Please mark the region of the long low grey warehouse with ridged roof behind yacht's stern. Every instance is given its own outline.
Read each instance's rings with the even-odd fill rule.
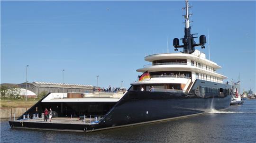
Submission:
[[[26,89],[26,83],[18,84],[18,87]],[[91,93],[93,92],[92,85],[88,84],[61,84],[48,82],[33,82],[27,83],[27,90],[30,90],[37,95],[46,93]]]

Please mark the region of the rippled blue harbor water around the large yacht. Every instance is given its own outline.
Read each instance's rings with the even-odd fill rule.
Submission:
[[[255,143],[256,100],[165,122],[92,133],[12,129],[1,121],[0,143]]]

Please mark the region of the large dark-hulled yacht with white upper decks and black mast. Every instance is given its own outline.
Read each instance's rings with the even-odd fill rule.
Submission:
[[[195,50],[205,48],[206,37],[196,43],[191,34],[188,0],[185,1],[183,45],[174,38],[180,52],[145,57],[151,62],[137,72],[143,73],[126,92],[48,93],[17,120],[12,128],[91,132],[123,126],[159,122],[205,113],[207,109],[226,109],[231,101],[231,85],[217,73],[219,65]],[[58,96],[57,96],[58,94]],[[43,122],[44,109],[55,114],[52,122]]]

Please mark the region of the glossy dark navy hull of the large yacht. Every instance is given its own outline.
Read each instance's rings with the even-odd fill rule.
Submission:
[[[225,95],[204,93],[204,97],[198,96],[195,90],[200,82],[198,80],[194,84],[191,93],[128,91],[98,124],[49,124],[23,121],[10,121],[9,124],[11,127],[89,132],[190,116],[204,113],[211,108],[219,110],[229,107],[232,97],[229,93]],[[219,86],[224,88],[227,85],[219,84]]]

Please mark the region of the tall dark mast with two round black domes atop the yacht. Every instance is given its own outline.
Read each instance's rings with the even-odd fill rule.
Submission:
[[[180,40],[182,40],[182,43],[183,45],[180,45],[180,42],[179,42],[179,38],[174,38],[174,50],[178,50],[177,48],[183,48],[184,51],[183,53],[193,53],[195,51],[195,46],[201,46],[201,48],[205,48],[204,47],[204,44],[206,43],[206,37],[205,35],[201,35],[199,37],[199,43],[197,44],[195,41],[194,41],[194,38],[197,38],[197,37],[194,37],[193,35],[195,34],[191,34],[191,26],[189,26],[189,16],[191,16],[192,14],[189,14],[188,13],[188,9],[191,8],[188,6],[188,0],[186,0],[186,7],[185,8],[182,8],[182,9],[186,9],[186,15],[184,15],[184,18],[185,18],[185,28],[184,28],[184,38],[181,38]]]

